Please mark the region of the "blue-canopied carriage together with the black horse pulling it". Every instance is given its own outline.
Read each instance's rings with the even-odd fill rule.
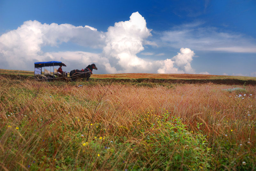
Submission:
[[[74,69],[70,71],[69,77],[67,72],[58,72],[54,66],[66,66],[64,63],[60,61],[49,61],[49,62],[35,62],[35,72],[34,77],[37,80],[70,80],[75,81],[77,78],[86,78],[88,81],[89,77],[92,74],[93,69],[98,69],[95,64],[88,65],[86,68],[82,70]],[[50,70],[44,68],[44,74],[42,72],[43,67],[50,67]],[[52,67],[52,70],[51,70]],[[51,72],[52,71],[52,72]]]

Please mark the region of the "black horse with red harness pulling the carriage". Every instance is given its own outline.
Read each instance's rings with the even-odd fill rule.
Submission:
[[[74,70],[70,71],[69,76],[70,76],[72,81],[75,81],[76,78],[86,78],[86,81],[88,81],[90,76],[91,76],[91,74],[92,74],[92,70],[93,69],[98,70],[98,68],[96,67],[95,64],[88,65],[84,69],[84,71],[83,70],[74,69]]]

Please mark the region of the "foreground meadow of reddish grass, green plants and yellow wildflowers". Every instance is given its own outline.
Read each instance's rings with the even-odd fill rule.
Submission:
[[[0,75],[0,169],[256,170],[255,92]]]

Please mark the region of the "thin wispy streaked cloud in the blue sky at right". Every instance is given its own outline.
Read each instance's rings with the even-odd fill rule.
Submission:
[[[234,32],[204,27],[203,22],[183,24],[162,33],[163,45],[197,51],[256,53],[255,39]]]

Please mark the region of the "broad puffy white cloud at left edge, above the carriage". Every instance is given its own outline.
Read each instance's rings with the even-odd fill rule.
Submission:
[[[0,56],[12,68],[31,69],[29,61],[44,60],[43,46],[58,47],[63,42],[99,48],[104,46],[105,35],[93,27],[75,27],[70,24],[41,24],[25,21],[16,30],[0,36]],[[70,56],[69,58],[72,58]],[[17,61],[17,62],[13,62]]]

